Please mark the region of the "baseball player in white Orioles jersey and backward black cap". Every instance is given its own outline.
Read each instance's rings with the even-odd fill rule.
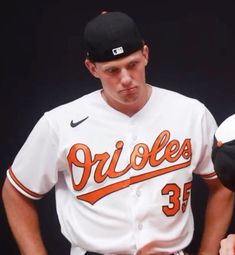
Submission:
[[[128,15],[98,15],[84,40],[101,89],[46,112],[7,170],[3,200],[21,253],[47,254],[32,200],[55,186],[71,255],[183,254],[197,174],[209,189],[198,254],[217,255],[233,196],[213,170],[211,113],[146,83],[149,49]]]

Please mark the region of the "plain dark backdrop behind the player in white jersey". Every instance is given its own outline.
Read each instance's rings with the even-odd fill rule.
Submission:
[[[1,187],[6,169],[43,112],[100,87],[84,67],[82,34],[86,22],[103,10],[127,12],[138,23],[150,47],[149,83],[199,99],[218,124],[235,112],[232,0],[9,0],[0,5]],[[197,178],[192,193],[196,229],[189,250],[195,253],[207,195]],[[69,244],[60,235],[53,191],[37,205],[49,254],[69,254]],[[235,232],[234,219],[229,231]],[[3,249],[5,254],[19,254],[1,202]]]

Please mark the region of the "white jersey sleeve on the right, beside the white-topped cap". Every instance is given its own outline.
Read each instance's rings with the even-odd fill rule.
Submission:
[[[217,123],[211,112],[205,107],[204,114],[201,118],[201,141],[198,141],[201,146],[200,160],[194,171],[203,179],[214,179],[217,175],[214,171],[213,162],[211,159],[212,145],[214,134],[217,129]]]

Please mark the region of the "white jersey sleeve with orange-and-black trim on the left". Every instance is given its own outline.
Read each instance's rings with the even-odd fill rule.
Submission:
[[[25,196],[40,199],[57,182],[57,143],[56,134],[44,115],[7,170],[11,184]]]

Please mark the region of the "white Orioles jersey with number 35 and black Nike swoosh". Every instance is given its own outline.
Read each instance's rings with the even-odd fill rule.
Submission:
[[[39,199],[55,186],[71,255],[171,254],[189,245],[193,173],[216,178],[216,122],[207,108],[152,87],[128,117],[95,91],[46,112],[7,175]]]

